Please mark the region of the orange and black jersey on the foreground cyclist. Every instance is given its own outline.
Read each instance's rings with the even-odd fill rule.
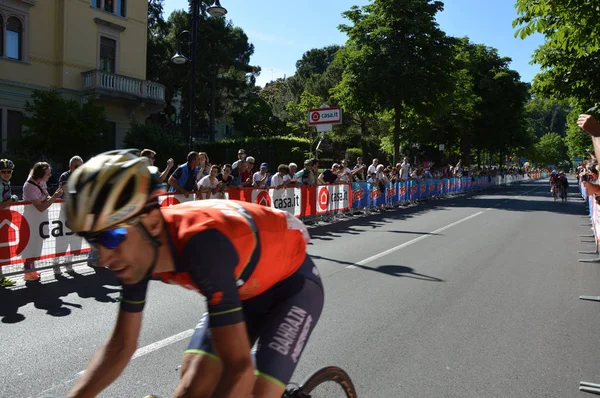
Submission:
[[[231,200],[201,200],[161,209],[175,271],[123,286],[121,309],[144,308],[151,279],[207,298],[211,327],[243,321],[242,304],[292,275],[306,240],[287,213]]]

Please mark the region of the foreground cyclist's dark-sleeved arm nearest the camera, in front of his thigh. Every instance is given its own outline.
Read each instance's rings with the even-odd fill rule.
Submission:
[[[191,274],[206,296],[213,347],[223,365],[214,396],[250,396],[255,376],[234,276],[239,263],[237,249],[224,234],[210,229],[188,241],[184,256],[199,259]]]

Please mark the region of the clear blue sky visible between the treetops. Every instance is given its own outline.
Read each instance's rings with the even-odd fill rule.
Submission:
[[[451,36],[468,36],[475,43],[498,49],[501,56],[512,58],[511,68],[523,81],[531,81],[539,72],[530,65],[533,51],[543,37],[514,38],[512,21],[516,17],[515,0],[446,0],[437,16],[440,28]],[[352,5],[368,0],[221,0],[227,18],[241,27],[255,51],[251,64],[262,68],[257,84],[291,76],[296,61],[312,48],[344,44],[346,36],[338,31],[346,23],[341,13]],[[165,19],[177,9],[187,9],[188,0],[165,0]]]

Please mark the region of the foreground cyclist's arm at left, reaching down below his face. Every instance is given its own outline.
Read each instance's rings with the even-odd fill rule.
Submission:
[[[115,328],[69,392],[69,398],[95,397],[123,372],[137,349],[148,281],[123,286]]]

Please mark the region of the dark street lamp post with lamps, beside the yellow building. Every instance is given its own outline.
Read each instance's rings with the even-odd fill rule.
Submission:
[[[190,77],[191,77],[191,85],[190,85],[190,136],[188,141],[189,151],[192,150],[192,136],[194,134],[194,112],[196,109],[196,51],[198,47],[198,21],[200,19],[200,2],[202,0],[192,0],[192,34],[191,34],[191,57],[188,60],[187,57],[183,55],[181,52],[181,36],[183,34],[190,36],[190,32],[184,30],[179,34],[177,39],[177,53],[171,58],[171,62],[177,65],[182,65],[191,62],[190,66]],[[227,10],[221,6],[221,2],[219,0],[214,0],[214,3],[207,8],[208,13],[213,17],[222,17],[227,14]],[[203,10],[204,13],[204,10]]]

